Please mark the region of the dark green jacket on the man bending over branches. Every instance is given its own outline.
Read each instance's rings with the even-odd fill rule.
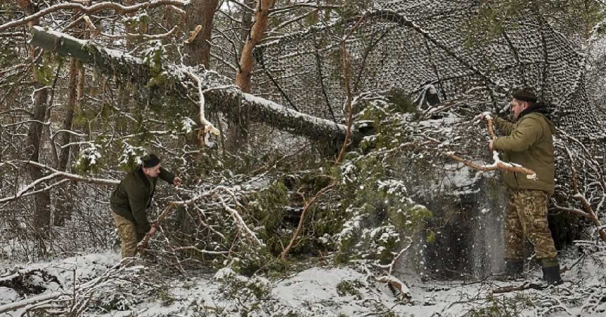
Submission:
[[[172,184],[175,175],[160,168],[159,178]],[[122,179],[110,197],[113,212],[135,222],[139,234],[147,233],[151,229],[150,223],[147,221],[147,215],[145,215],[145,209],[151,203],[157,181],[158,178],[145,176],[143,170],[139,167]]]

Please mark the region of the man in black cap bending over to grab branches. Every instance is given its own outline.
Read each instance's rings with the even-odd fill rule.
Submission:
[[[135,256],[137,243],[150,231],[145,210],[151,204],[158,176],[175,186],[181,178],[162,169],[160,159],[154,154],[141,158],[142,164],[128,173],[110,197],[114,224],[122,241],[122,258]]]

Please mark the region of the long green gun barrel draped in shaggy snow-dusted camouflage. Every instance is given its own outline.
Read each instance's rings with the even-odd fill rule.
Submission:
[[[98,47],[88,41],[42,27],[33,27],[31,32],[33,37],[30,44],[91,64],[98,72],[105,75],[119,76],[122,79],[136,82],[140,87],[155,88],[154,92],[170,94],[184,101],[187,99],[184,99],[183,96],[192,91],[197,92],[196,89],[188,88],[196,87],[198,84],[188,76],[190,71],[187,68],[172,67],[159,75],[165,76],[165,78],[154,78],[149,65],[126,53]],[[329,141],[338,144],[345,138],[345,125],[297,112],[276,102],[242,93],[235,86],[216,85],[216,87],[212,87],[208,82],[203,84],[205,85],[202,87],[204,99],[210,102],[213,110],[225,113],[225,115],[249,113],[251,121],[261,122],[293,135],[305,136],[313,141]],[[158,94],[151,94],[150,91],[143,94],[138,98],[150,103],[161,103],[161,100],[157,99]],[[240,111],[236,111],[238,107],[240,107]]]

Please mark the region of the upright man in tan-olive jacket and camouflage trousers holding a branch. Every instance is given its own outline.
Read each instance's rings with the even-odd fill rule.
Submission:
[[[547,109],[537,103],[528,88],[513,93],[511,112],[515,122],[496,118],[494,125],[504,136],[489,141],[490,150],[502,152],[502,160],[520,164],[536,173],[528,179],[519,172],[502,171],[510,192],[505,211],[505,274],[522,275],[524,241],[534,245],[543,278],[548,284],[561,284],[558,253],[547,222],[548,195],[554,190],[553,133]]]

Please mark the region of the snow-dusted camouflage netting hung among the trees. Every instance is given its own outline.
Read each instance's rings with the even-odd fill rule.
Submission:
[[[504,23],[500,35],[466,32],[473,1],[379,1],[347,41],[351,87],[402,91],[424,101],[465,98],[474,110],[498,111],[514,88],[534,87],[553,104],[554,123],[578,137],[604,138],[601,113],[584,85],[585,57],[540,16]],[[256,50],[255,93],[301,112],[341,121],[345,101],[340,39],[353,16],[319,25]],[[471,98],[470,98],[471,97]],[[435,100],[439,98],[439,100]],[[578,122],[585,122],[579,125]]]

